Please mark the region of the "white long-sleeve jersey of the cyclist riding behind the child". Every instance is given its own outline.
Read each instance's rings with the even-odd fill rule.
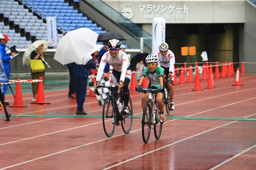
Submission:
[[[163,57],[160,51],[156,52],[157,57],[159,58],[159,66],[163,66],[165,68],[169,67],[169,72],[174,73],[174,64],[175,64],[175,56],[171,50],[168,50],[165,57]]]

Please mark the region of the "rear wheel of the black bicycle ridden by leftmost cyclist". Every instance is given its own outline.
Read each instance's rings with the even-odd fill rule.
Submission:
[[[133,125],[133,104],[130,97],[128,102],[128,113],[127,115],[123,115],[123,119],[124,120],[121,121],[123,132],[128,134],[131,131]]]

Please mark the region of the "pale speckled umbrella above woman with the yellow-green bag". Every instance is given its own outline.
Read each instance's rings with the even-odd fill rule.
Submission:
[[[31,52],[36,50],[39,45],[43,44],[43,52],[48,49],[48,45],[50,44],[50,41],[45,41],[45,40],[37,40],[33,42],[32,44],[29,45],[29,47],[26,49],[24,55],[23,55],[23,65],[29,65],[30,64],[30,56]]]

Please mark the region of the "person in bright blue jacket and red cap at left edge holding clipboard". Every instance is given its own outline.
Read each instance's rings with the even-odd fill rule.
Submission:
[[[7,81],[3,82],[3,83],[7,83],[9,81],[9,77],[10,77],[10,73],[11,73],[11,64],[10,64],[9,60],[12,59],[16,54],[15,54],[15,52],[11,56],[8,56],[6,54],[6,51],[5,51],[6,43],[7,43],[7,41],[10,41],[10,39],[8,38],[8,36],[6,34],[2,34],[2,35],[4,36],[4,38],[0,39],[0,52],[1,52],[1,56],[2,56],[2,62],[3,62],[3,66],[4,66],[5,75],[7,77]],[[3,87],[4,87],[3,97],[5,98],[5,94],[8,89],[8,84],[3,85]],[[5,105],[9,105],[9,103],[5,102]]]

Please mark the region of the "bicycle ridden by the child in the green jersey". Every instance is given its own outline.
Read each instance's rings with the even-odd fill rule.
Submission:
[[[148,100],[143,109],[142,115],[142,139],[148,143],[151,125],[154,125],[154,135],[158,140],[162,133],[162,123],[160,122],[160,111],[156,102],[156,89],[142,88],[143,93],[149,92]]]

